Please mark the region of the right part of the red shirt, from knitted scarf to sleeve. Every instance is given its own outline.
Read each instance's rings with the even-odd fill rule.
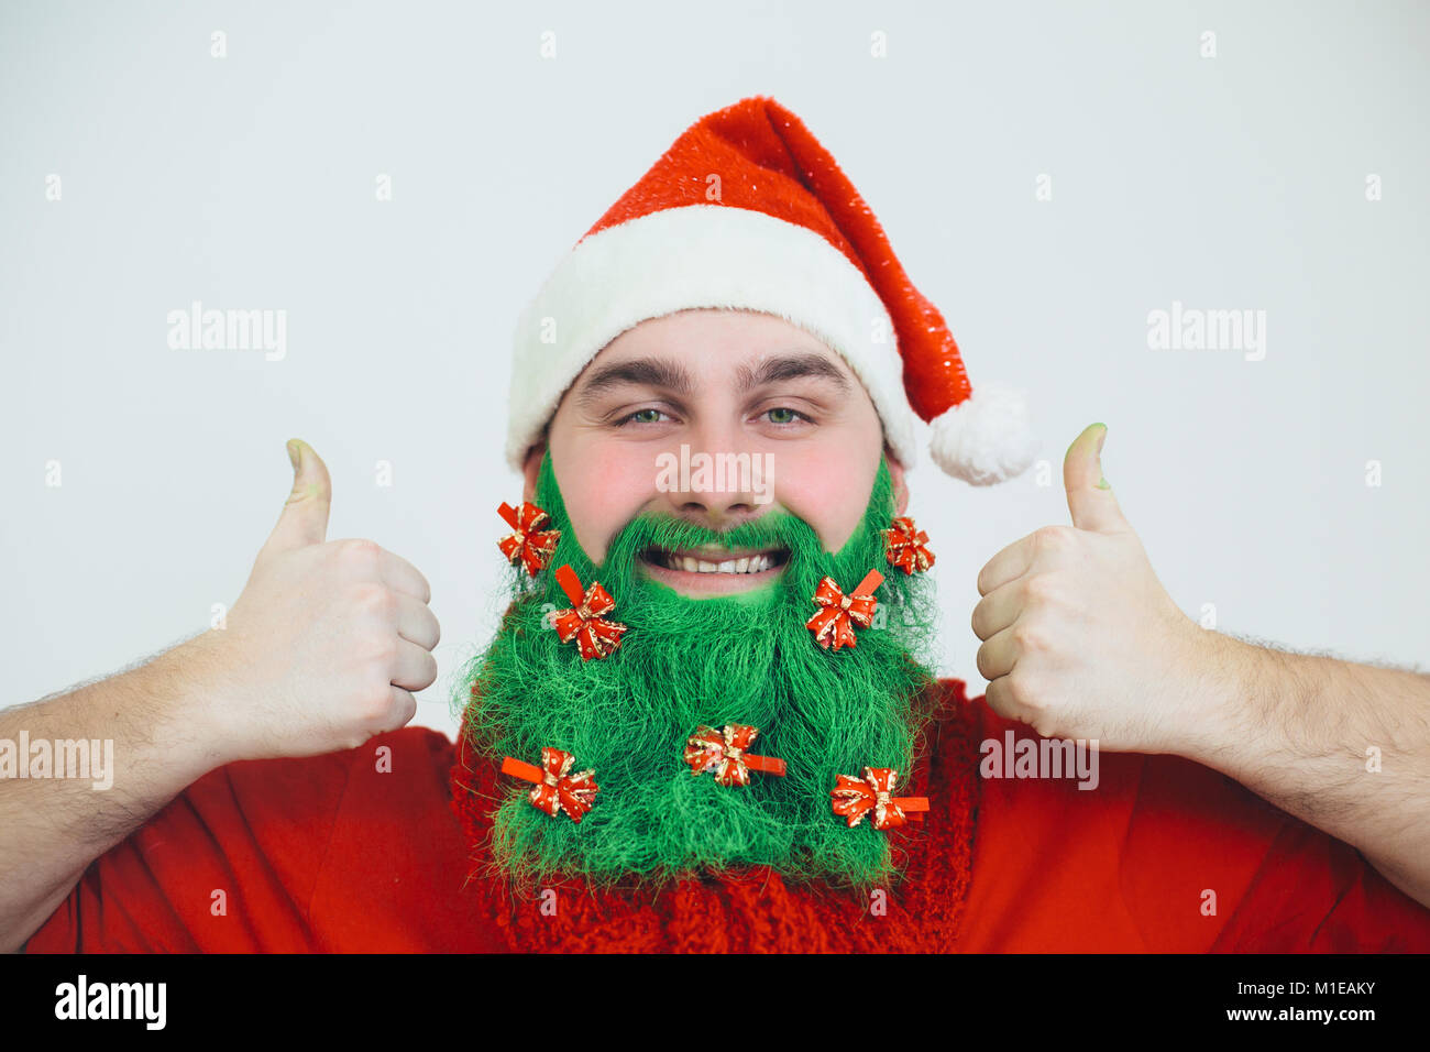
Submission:
[[[980,697],[981,740],[1040,736]],[[1430,950],[1430,909],[1351,846],[1174,756],[1100,753],[1100,784],[980,776],[968,949]]]

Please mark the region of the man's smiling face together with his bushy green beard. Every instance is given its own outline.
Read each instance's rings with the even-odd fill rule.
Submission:
[[[907,494],[862,385],[782,321],[682,312],[605,348],[548,435],[525,497],[561,531],[555,557],[535,580],[513,570],[512,604],[456,700],[473,754],[533,761],[561,749],[573,770],[593,769],[601,789],[578,824],[532,807],[512,784],[479,850],[509,876],[538,880],[664,882],[738,865],[789,879],[884,879],[888,836],[869,823],[848,829],[829,790],[865,766],[908,774],[928,716],[937,603],[925,574],[885,561],[882,531]],[[682,444],[688,458],[768,458],[772,485],[668,488],[658,457],[679,458]],[[662,551],[735,565],[672,570]],[[742,574],[748,552],[775,565]],[[553,580],[562,565],[615,600],[608,618],[626,631],[606,657],[582,660],[551,627],[548,614],[572,605]],[[822,648],[805,625],[821,580],[849,594],[871,570],[884,574],[874,623],[855,646]],[[758,727],[751,751],[784,759],[785,776],[728,787],[692,774],[686,739],[725,724]]]

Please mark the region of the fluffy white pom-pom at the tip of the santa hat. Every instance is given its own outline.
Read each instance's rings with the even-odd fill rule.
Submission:
[[[1022,474],[1037,452],[1022,391],[980,384],[930,428],[934,464],[970,485],[992,485]]]

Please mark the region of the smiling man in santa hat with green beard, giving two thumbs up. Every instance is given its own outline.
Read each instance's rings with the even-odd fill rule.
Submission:
[[[1064,465],[1074,525],[981,574],[991,683],[968,700],[931,671],[911,406],[950,474],[1027,464],[1015,399],[971,388],[798,119],[711,115],[518,329],[512,603],[459,680],[460,741],[393,730],[435,678],[426,583],[323,540],[330,484],[297,444],[227,628],[0,716],[0,737],[103,730],[133,757],[110,809],[0,783],[7,945],[1430,949],[1424,681],[1331,663],[1364,684],[1346,713],[1308,666],[1191,624],[1094,427]],[[1088,792],[1000,777],[991,746],[1054,754],[1022,723],[1138,751]],[[1241,737],[1273,761],[1238,766]],[[1337,754],[1358,771],[1369,744],[1396,763],[1351,777]],[[1307,749],[1327,759],[1288,759]]]

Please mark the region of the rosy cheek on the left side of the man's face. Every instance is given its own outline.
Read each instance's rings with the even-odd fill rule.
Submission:
[[[576,541],[601,565],[606,545],[639,514],[655,487],[649,454],[589,442],[553,451],[552,467]]]

